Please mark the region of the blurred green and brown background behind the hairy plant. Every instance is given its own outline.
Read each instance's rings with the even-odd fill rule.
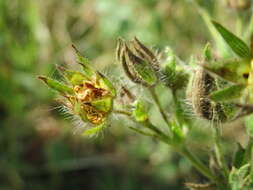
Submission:
[[[198,3],[229,28],[241,14],[225,0]],[[73,43],[120,83],[119,36],[170,46],[183,60],[212,41],[190,0],[0,0],[1,190],[185,189],[187,181],[205,181],[167,145],[124,127],[124,118],[101,137],[81,137],[57,109],[56,94],[37,80],[58,78],[55,65],[76,67]],[[167,94],[162,98],[168,105]],[[196,132],[193,148],[204,133]]]

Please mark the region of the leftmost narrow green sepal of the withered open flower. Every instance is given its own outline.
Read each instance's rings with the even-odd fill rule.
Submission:
[[[48,87],[52,88],[53,90],[56,90],[59,93],[62,94],[73,94],[73,89],[68,87],[65,84],[60,83],[57,80],[45,77],[45,76],[39,76],[38,79],[44,81]]]

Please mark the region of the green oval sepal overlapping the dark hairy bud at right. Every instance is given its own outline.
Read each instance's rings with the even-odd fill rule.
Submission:
[[[235,84],[224,88],[222,90],[214,91],[209,95],[210,99],[215,102],[224,102],[230,101],[235,98],[239,98],[242,94],[242,91],[245,89],[245,85]]]

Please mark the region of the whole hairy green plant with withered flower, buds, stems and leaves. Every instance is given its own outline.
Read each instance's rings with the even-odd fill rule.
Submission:
[[[110,124],[111,114],[121,114],[139,126],[130,129],[168,144],[208,179],[204,184],[186,183],[189,189],[250,190],[253,189],[251,134],[248,144],[244,148],[238,145],[234,156],[228,158],[222,148],[221,126],[253,112],[253,45],[251,42],[248,46],[221,24],[215,21],[211,24],[234,55],[219,58],[207,44],[200,58],[193,57],[186,63],[170,48],[158,56],[136,37],[130,41],[118,39],[117,62],[133,84],[145,88],[152,97],[167,130],[152,123],[144,98],[136,98],[127,86],[115,88],[113,81],[92,68],[76,48],[82,71],[59,67],[63,82],[45,76],[39,79],[56,90],[68,112],[87,125],[83,135],[100,133]],[[160,102],[158,85],[171,93],[173,104],[169,110]],[[120,98],[117,94],[122,92],[129,99],[128,105],[115,106],[114,101]],[[212,128],[214,144],[207,152],[212,164],[198,158],[187,146],[186,139],[196,118]]]

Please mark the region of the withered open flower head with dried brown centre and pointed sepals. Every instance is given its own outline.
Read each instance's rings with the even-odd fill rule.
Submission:
[[[76,50],[76,48],[75,48]],[[92,125],[104,124],[113,106],[116,91],[112,83],[100,72],[90,67],[88,59],[76,50],[78,63],[83,72],[58,69],[66,83],[40,76],[50,88],[56,90],[64,99],[64,105],[82,121]]]

